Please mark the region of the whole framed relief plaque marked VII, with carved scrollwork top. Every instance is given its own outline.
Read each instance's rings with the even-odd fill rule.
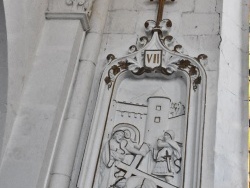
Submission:
[[[79,187],[199,187],[206,56],[182,53],[170,22],[147,21],[150,38],[108,55]]]

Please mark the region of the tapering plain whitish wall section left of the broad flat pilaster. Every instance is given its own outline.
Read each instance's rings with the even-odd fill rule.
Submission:
[[[11,134],[25,82],[36,55],[47,0],[4,1],[8,37],[8,103],[4,148]]]

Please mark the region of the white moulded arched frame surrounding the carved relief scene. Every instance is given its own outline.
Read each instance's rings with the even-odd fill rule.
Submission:
[[[185,162],[182,163],[182,165],[184,165],[184,171],[181,187],[200,187],[207,82],[206,73],[200,61],[206,58],[206,56],[200,55],[198,58],[192,58],[182,54],[176,50],[181,47],[180,45],[174,46],[174,49],[171,50],[169,46],[167,46],[165,39],[166,37],[163,38],[161,32],[154,31],[151,40],[146,42],[140,50],[137,50],[136,46],[131,46],[133,53],[123,58],[115,59],[113,55],[108,56],[110,62],[102,75],[95,113],[85,150],[87,152],[84,155],[82,163],[83,166],[79,179],[80,188],[92,187],[107,123],[110,102],[113,96],[115,96],[114,94],[121,80],[128,75],[131,76],[131,74],[138,76],[138,79],[144,76],[160,75],[165,79],[182,76],[185,80],[187,84],[186,107],[188,108],[186,110],[186,141],[183,143],[185,145],[185,156],[183,159]],[[174,58],[165,59],[165,62],[167,61],[165,67],[145,69],[143,65],[144,61],[142,61],[143,53],[145,50],[152,49],[153,47],[162,49],[163,52]],[[112,72],[112,78],[109,76],[110,71]],[[104,112],[107,112],[107,114],[103,114]]]

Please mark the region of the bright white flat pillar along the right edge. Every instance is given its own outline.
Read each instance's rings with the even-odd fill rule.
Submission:
[[[248,0],[223,1],[214,188],[248,187]]]

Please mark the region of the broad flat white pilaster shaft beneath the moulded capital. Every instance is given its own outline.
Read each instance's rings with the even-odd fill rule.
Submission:
[[[45,21],[3,156],[0,187],[34,188],[45,182],[46,152],[53,154],[51,143],[57,139],[84,33],[79,19]]]

